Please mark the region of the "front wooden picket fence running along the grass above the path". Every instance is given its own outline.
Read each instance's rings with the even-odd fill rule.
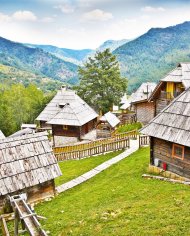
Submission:
[[[72,160],[72,159],[81,159],[84,157],[89,157],[104,152],[121,150],[124,148],[129,148],[130,140],[125,138],[122,140],[115,140],[108,143],[100,143],[98,146],[84,148],[80,150],[67,151],[67,152],[57,152],[55,156],[58,161],[63,160]]]

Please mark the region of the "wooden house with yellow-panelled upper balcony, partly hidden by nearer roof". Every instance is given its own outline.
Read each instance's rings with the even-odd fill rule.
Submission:
[[[190,63],[178,66],[160,80],[149,97],[155,106],[155,115],[159,114],[175,97],[190,86]]]

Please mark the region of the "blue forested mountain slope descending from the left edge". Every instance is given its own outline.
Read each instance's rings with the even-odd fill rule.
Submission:
[[[2,37],[0,37],[0,64],[70,84],[78,81],[77,65],[42,49],[27,47]]]

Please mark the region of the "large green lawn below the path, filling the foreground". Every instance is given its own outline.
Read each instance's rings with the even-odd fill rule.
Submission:
[[[36,206],[56,235],[190,235],[190,187],[141,177],[141,148],[91,180]]]

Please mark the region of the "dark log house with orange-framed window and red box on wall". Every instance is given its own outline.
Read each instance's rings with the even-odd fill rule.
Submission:
[[[190,178],[190,89],[141,129],[150,136],[150,164]]]

